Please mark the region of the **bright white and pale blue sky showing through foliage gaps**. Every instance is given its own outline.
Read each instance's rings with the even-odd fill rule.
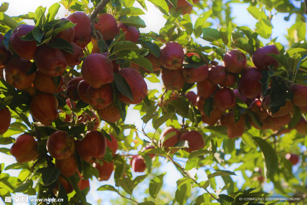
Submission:
[[[51,6],[52,4],[54,4],[57,1],[50,1],[50,0],[39,0],[39,1],[33,1],[33,0],[8,0],[8,1],[2,1],[1,2],[8,2],[10,3],[9,9],[5,12],[7,15],[9,16],[18,16],[21,14],[26,14],[28,11],[32,11],[34,12],[35,9],[38,6],[43,6],[46,7],[47,9],[49,8],[49,6]],[[140,32],[141,33],[148,33],[150,31],[153,31],[155,33],[159,33],[159,30],[161,29],[161,27],[164,26],[166,19],[163,18],[161,12],[150,2],[146,1],[146,5],[148,8],[148,12],[144,10],[146,15],[141,15],[140,17],[144,20],[144,22],[146,23],[146,25],[148,27],[146,28],[140,28]],[[135,7],[141,8],[142,7],[138,4],[138,2],[134,3]],[[239,4],[239,3],[231,3],[231,17],[235,17],[235,19],[233,20],[234,23],[236,23],[238,26],[248,26],[250,27],[252,30],[255,28],[255,24],[257,22],[257,20],[255,18],[253,18],[248,12],[247,12],[247,7],[249,6],[249,4]],[[198,14],[201,14],[202,12],[199,12],[196,10],[196,12],[198,12]],[[63,6],[60,7],[60,10],[58,11],[58,14],[56,15],[56,17],[59,18],[63,18],[65,16],[65,9]],[[272,25],[273,25],[273,38],[278,37],[277,41],[282,43],[282,45],[287,45],[288,41],[286,39],[286,37],[284,37],[283,35],[287,35],[287,28],[290,28],[290,26],[295,22],[295,18],[296,15],[293,14],[290,17],[290,20],[288,22],[284,21],[284,17],[287,17],[288,14],[284,14],[284,13],[278,13],[275,18],[272,19]],[[194,24],[196,19],[198,17],[195,14],[191,14],[191,20],[192,23]],[[32,20],[24,20],[27,24],[33,25],[33,21]],[[217,28],[217,23],[212,20],[212,19],[208,19],[209,22],[213,23],[213,27]],[[266,43],[268,43],[267,39],[260,39],[264,45]],[[201,45],[210,45],[208,41],[205,41],[201,38],[198,38],[197,41],[201,44]],[[147,79],[145,79],[146,83],[147,83],[147,87],[148,89],[157,89],[161,92],[161,84],[162,84],[162,80],[161,78],[159,78],[161,83],[151,83],[150,81],[148,81]],[[196,88],[193,89],[194,92],[196,91]],[[127,117],[125,120],[125,124],[135,124],[137,127],[141,127],[143,122],[141,120],[141,116],[139,114],[138,110],[133,110],[133,105],[130,105],[130,107],[128,108],[128,113],[127,113]],[[165,128],[165,124],[161,126],[161,128]],[[146,132],[154,132],[153,127],[151,126],[151,123],[149,122],[146,126],[145,129]],[[18,136],[18,135],[17,135]],[[17,137],[17,136],[13,136],[13,137]],[[148,140],[148,139],[146,139]],[[236,140],[236,148],[240,147],[240,142],[241,140]],[[11,144],[9,145],[0,145],[0,147],[6,147],[6,148],[10,148]],[[136,151],[137,152],[137,151]],[[136,153],[134,152],[134,153]],[[133,153],[133,152],[131,152]],[[180,172],[175,168],[175,166],[171,163],[165,163],[164,158],[159,159],[159,161],[161,162],[161,167],[158,170],[158,173],[163,173],[163,172],[167,172],[167,174],[164,177],[164,186],[162,189],[164,190],[169,190],[170,192],[173,192],[173,197],[174,197],[174,193],[176,191],[176,181],[180,178],[182,178],[182,175],[180,174]],[[0,153],[0,163],[5,163],[5,166],[9,165],[9,164],[13,164],[16,163],[16,160],[13,156],[8,156],[6,154]],[[229,167],[227,170],[229,171],[234,171],[235,168],[239,167],[239,165],[241,164],[233,164],[231,165],[231,167]],[[297,169],[294,168],[293,169]],[[294,171],[294,170],[293,170]],[[18,176],[20,170],[8,170],[8,171],[4,171],[6,173],[9,173],[11,176]],[[113,172],[114,173],[114,172]],[[237,174],[237,176],[231,176],[231,178],[233,179],[233,181],[237,182],[237,185],[240,187],[242,186],[242,184],[244,183],[244,179],[242,177],[242,174],[240,171],[235,171],[235,173]],[[145,173],[134,173],[133,172],[133,176],[137,176],[137,175],[143,175]],[[247,171],[246,172],[247,176],[251,175],[251,172]],[[200,181],[205,181],[207,180],[207,175],[205,174],[204,168],[200,168],[197,172],[198,175],[198,182]],[[112,191],[95,191],[98,187],[104,185],[104,184],[110,184],[115,186],[114,183],[114,176],[112,174],[111,178],[108,181],[103,181],[103,182],[99,182],[95,177],[93,177],[93,181],[90,180],[90,187],[91,190],[87,195],[87,200],[89,203],[92,204],[97,204],[97,200],[98,199],[102,199],[102,204],[105,205],[109,205],[111,204],[108,200],[111,198],[116,198],[116,197],[120,197],[119,195],[117,195],[117,193],[112,192]],[[216,177],[216,182],[217,182],[217,187],[222,188],[225,184],[222,180],[222,178]],[[139,190],[143,190],[148,188],[148,184],[149,184],[149,179],[144,180],[142,183],[140,183],[138,185],[138,187],[136,188],[136,190],[134,191],[134,196],[136,199],[138,199],[139,202],[141,202],[144,199],[144,196],[142,195],[138,195],[137,193],[137,189]],[[271,191],[273,188],[272,184],[265,184],[264,186],[264,191]],[[197,188],[195,188],[197,189]],[[192,189],[195,190],[195,189]],[[209,189],[209,191],[213,192],[212,189]],[[204,192],[202,191],[198,191],[198,195],[202,194]],[[222,193],[227,193],[227,191],[223,191]],[[21,193],[17,193],[18,196],[24,196]],[[35,196],[36,197],[36,196]],[[2,201],[0,200],[0,204],[2,204]]]

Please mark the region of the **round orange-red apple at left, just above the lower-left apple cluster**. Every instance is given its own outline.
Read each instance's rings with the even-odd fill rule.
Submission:
[[[53,120],[59,117],[58,105],[54,95],[39,93],[30,102],[30,113],[41,124],[50,125]]]

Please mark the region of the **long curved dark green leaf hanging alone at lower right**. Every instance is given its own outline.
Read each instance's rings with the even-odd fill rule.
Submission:
[[[260,147],[265,160],[266,178],[270,178],[278,169],[278,158],[272,146],[260,137],[253,137],[253,140]]]

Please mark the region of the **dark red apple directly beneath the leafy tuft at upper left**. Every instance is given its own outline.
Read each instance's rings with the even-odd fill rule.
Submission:
[[[41,47],[35,54],[35,64],[42,73],[55,77],[63,74],[67,62],[58,48],[49,45]]]

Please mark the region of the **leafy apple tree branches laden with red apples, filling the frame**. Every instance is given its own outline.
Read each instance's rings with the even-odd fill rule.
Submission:
[[[0,144],[12,148],[0,151],[17,160],[2,163],[1,172],[21,170],[18,177],[0,174],[3,201],[21,192],[64,199],[59,204],[87,204],[88,180],[108,180],[115,170],[116,187],[97,191],[117,192],[131,203],[162,204],[165,173],[152,172],[159,159],[182,174],[168,204],[262,204],[239,198],[269,195],[266,183],[280,195],[306,195],[304,1],[300,8],[282,0],[91,2],[94,7],[88,0],[63,0],[14,17],[5,14],[8,3],[1,5]],[[167,21],[158,34],[139,33],[146,27],[139,17],[145,13],[134,2],[161,11]],[[230,17],[230,3],[243,2],[257,19],[254,30]],[[67,16],[55,19],[61,5]],[[190,13],[196,11],[201,15],[193,24]],[[272,38],[277,13],[289,14],[286,21],[296,14],[288,45]],[[200,45],[199,38],[210,46]],[[144,79],[157,85],[162,79],[161,91],[147,90]],[[197,95],[190,91],[195,87]],[[142,127],[124,123],[131,104]],[[144,131],[149,123],[154,133]],[[235,169],[245,179],[240,188],[227,170],[234,163],[242,163]],[[198,169],[205,170],[207,181],[198,180]],[[133,179],[132,171],[144,175]],[[216,186],[216,176],[224,187]],[[134,188],[146,178],[148,197],[136,201]],[[192,189],[205,193],[193,198]]]

